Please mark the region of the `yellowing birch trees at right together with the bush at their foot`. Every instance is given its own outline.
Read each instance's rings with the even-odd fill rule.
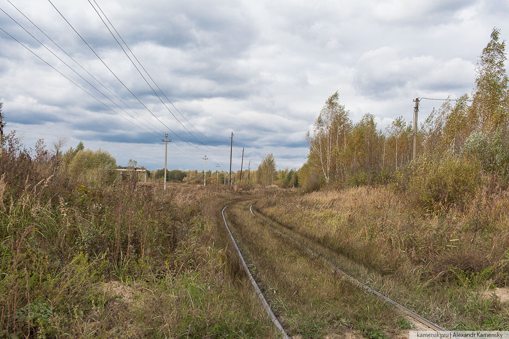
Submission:
[[[375,116],[366,114],[353,124],[349,111],[339,102],[338,93],[333,94],[320,112],[313,133],[306,136],[308,160],[298,173],[305,190],[316,190],[316,181],[321,187],[394,181],[400,190],[404,187],[410,191],[422,184],[425,187],[419,188],[418,198],[422,201],[416,205],[436,211],[437,204],[451,205],[472,197],[481,187],[477,176],[486,181],[486,175],[494,173],[501,182],[507,182],[509,79],[504,68],[505,41],[500,42],[499,36],[499,30],[494,28],[490,42],[479,56],[472,99],[465,94],[454,105],[445,101],[420,126],[418,153],[413,163],[414,131],[410,123],[399,117],[381,131]],[[478,173],[478,164],[483,173]],[[453,172],[448,170],[457,176],[476,174],[475,178],[464,177],[456,182]],[[411,178],[410,173],[419,178]],[[469,180],[472,182],[467,183]],[[464,183],[469,187],[453,189]],[[456,191],[445,194],[450,190],[469,193],[461,197]]]

